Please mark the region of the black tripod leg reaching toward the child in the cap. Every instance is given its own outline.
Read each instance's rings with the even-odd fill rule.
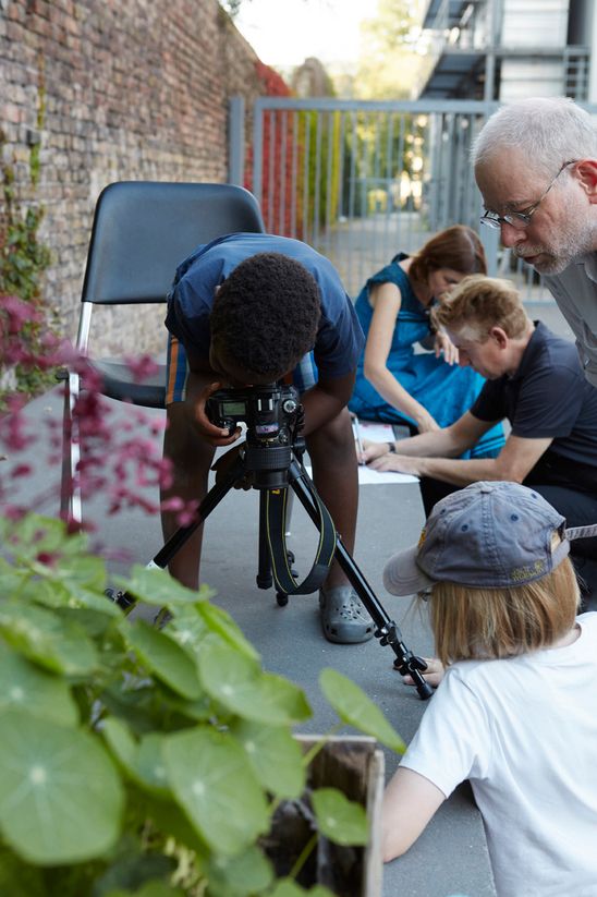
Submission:
[[[291,462],[289,471],[290,486],[293,489],[294,494],[297,496],[298,500],[305,508],[306,512],[308,513],[313,522],[317,525],[317,510],[315,506],[315,500],[312,496],[312,492],[315,489],[315,487],[313,486],[310,481],[308,481],[309,485],[307,486],[306,481],[308,481],[308,477],[296,463],[296,461],[293,460]],[[432,694],[432,689],[421,675],[422,670],[427,669],[425,660],[423,660],[421,657],[415,656],[406,647],[402,640],[402,633],[400,632],[399,627],[386,613],[386,609],[378,601],[369,583],[356,566],[350,553],[342,544],[342,538],[339,534],[337,534],[336,542],[336,559],[340,563],[340,567],[346,574],[349,582],[355,590],[364,606],[371,615],[374,622],[377,627],[375,632],[376,639],[379,639],[379,643],[381,645],[390,645],[390,647],[394,652],[398,658],[398,665],[394,662],[394,666],[397,667],[397,669],[402,674],[402,676],[411,676],[413,678],[416,690],[421,698],[423,698],[424,700],[430,698],[430,695]]]

